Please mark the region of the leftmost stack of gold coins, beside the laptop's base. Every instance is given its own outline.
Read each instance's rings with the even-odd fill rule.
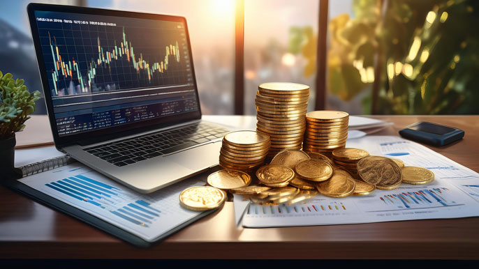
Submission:
[[[265,163],[270,144],[270,137],[261,132],[229,132],[223,137],[219,165],[225,169],[252,173]]]

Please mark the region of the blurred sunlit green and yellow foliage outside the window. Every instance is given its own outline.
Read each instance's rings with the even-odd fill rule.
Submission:
[[[328,91],[362,94],[364,114],[479,114],[478,25],[477,0],[353,0],[330,18]],[[289,52],[314,60],[308,31],[290,28]]]

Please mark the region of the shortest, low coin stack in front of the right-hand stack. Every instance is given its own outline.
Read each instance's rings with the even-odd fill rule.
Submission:
[[[360,148],[339,148],[332,152],[334,164],[341,169],[347,170],[355,178],[359,178],[358,162],[367,156],[369,156],[369,152]]]

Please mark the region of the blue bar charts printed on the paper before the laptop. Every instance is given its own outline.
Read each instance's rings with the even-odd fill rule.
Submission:
[[[73,199],[91,203],[112,215],[139,226],[148,227],[161,217],[161,210],[144,199],[136,199],[118,187],[77,175],[45,184]]]

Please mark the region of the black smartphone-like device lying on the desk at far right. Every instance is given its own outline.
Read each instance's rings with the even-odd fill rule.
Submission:
[[[399,131],[401,137],[432,146],[444,146],[464,137],[464,131],[437,123],[420,121]]]

